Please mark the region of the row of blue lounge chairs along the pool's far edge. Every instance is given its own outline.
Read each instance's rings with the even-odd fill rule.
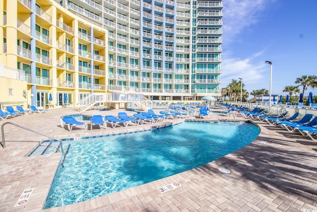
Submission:
[[[181,114],[174,114],[174,113],[167,113],[164,111],[160,111],[160,114],[156,114],[152,109],[148,110],[147,112],[141,112],[133,114],[133,118],[129,117],[127,113],[120,112],[118,113],[118,116],[115,117],[113,115],[93,115],[91,117],[90,122],[90,130],[93,129],[94,125],[102,126],[106,129],[107,123],[110,123],[112,128],[115,128],[116,126],[122,124],[122,126],[127,127],[129,124],[134,123],[135,125],[143,125],[145,122],[148,122],[150,124],[158,122],[158,121],[164,121],[165,119],[172,118],[181,118]],[[61,117],[60,119],[60,125],[62,128],[64,126],[68,127],[68,131],[71,131],[73,127],[81,126],[83,129],[87,129],[88,124],[85,122],[77,121],[74,117]]]

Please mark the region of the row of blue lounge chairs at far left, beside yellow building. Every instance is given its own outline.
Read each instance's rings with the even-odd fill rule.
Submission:
[[[6,112],[0,109],[0,119],[4,120],[7,118],[12,118],[19,115],[27,115],[32,113],[46,113],[46,109],[37,109],[35,106],[31,105],[29,110],[24,110],[22,106],[16,106],[16,110],[12,106],[6,106]]]

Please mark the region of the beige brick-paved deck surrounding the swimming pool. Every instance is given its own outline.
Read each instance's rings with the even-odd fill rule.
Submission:
[[[84,114],[113,114],[119,110],[91,110]],[[128,115],[134,112],[125,111]],[[18,116],[13,122],[61,139],[151,129],[183,119],[91,130],[60,127],[60,116],[79,113],[72,108],[49,110],[45,114]],[[201,120],[198,116],[190,119]],[[245,120],[238,117],[239,120]],[[204,118],[206,120],[206,118]],[[232,120],[232,116],[211,115],[211,120]],[[89,123],[89,122],[87,122]],[[47,138],[6,124],[6,148],[0,147],[0,212],[39,211],[317,211],[317,143],[276,127],[255,122],[259,137],[246,147],[204,166],[145,185],[73,205],[42,210],[61,154],[26,157]],[[90,129],[90,126],[89,126]],[[221,173],[224,167],[231,172]],[[182,186],[161,193],[158,188],[179,182]],[[24,206],[14,207],[24,189],[34,189]]]

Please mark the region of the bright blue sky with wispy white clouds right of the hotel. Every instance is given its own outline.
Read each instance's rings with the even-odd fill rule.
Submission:
[[[297,77],[317,75],[317,0],[222,2],[221,88],[240,77],[249,93],[269,90],[265,61],[272,62],[272,94],[283,95]],[[317,94],[309,87],[305,96],[310,91]]]

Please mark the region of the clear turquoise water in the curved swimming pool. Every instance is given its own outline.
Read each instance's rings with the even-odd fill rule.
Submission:
[[[204,165],[249,144],[259,133],[250,123],[185,122],[142,133],[63,141],[67,154],[62,156],[45,209]]]

